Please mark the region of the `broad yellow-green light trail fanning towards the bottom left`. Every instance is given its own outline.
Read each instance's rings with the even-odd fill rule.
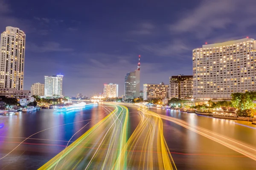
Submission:
[[[127,142],[128,109],[107,106],[115,109],[40,169],[119,169],[116,160]]]

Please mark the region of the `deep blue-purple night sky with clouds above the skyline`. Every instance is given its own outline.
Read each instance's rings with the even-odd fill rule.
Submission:
[[[26,33],[25,85],[63,74],[65,96],[92,95],[137,68],[140,86],[192,75],[192,50],[256,39],[256,0],[0,0],[0,32]]]

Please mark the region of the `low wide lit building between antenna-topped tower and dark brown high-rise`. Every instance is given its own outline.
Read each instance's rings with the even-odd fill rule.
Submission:
[[[169,85],[163,82],[160,84],[144,84],[143,85],[143,99],[165,99],[169,94]]]

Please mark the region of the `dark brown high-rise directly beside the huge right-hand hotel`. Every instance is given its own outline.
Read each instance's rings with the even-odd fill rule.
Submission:
[[[192,99],[193,98],[193,76],[172,76],[169,77],[170,98]]]

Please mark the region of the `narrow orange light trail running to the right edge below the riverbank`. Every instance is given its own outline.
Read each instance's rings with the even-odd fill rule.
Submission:
[[[188,122],[185,122],[183,120],[180,120],[180,119],[177,119],[174,117],[170,117],[170,116],[166,116],[166,115],[159,115],[159,116],[162,119],[168,120],[170,122],[174,122],[177,125],[180,125],[182,127],[185,127],[186,129],[192,130],[195,133],[205,136],[208,139],[218,142],[218,143],[256,161],[256,147],[254,147],[254,146],[250,146],[248,144],[236,141],[234,139],[227,138],[225,136],[221,136],[221,135],[214,133],[210,130],[206,130],[206,129],[198,127],[198,126],[191,125]]]

